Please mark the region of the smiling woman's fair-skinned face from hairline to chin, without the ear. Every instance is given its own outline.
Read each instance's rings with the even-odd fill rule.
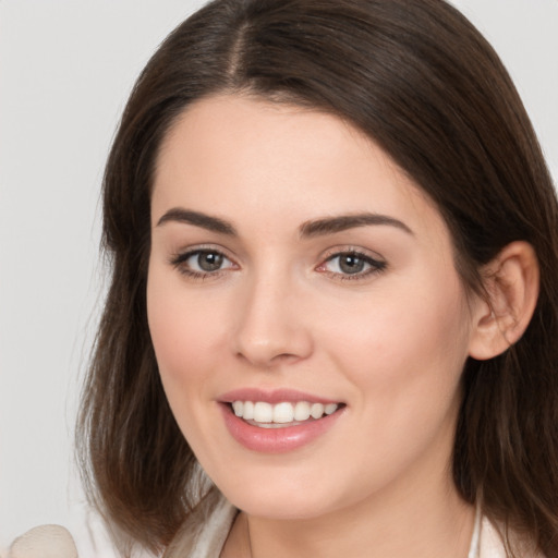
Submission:
[[[162,384],[235,506],[311,518],[451,485],[475,302],[381,149],[332,116],[206,98],[162,145],[151,220]]]

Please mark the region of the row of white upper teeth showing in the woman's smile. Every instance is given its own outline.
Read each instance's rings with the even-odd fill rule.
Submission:
[[[299,423],[307,421],[310,417],[318,420],[324,414],[335,413],[338,408],[337,403],[324,405],[308,401],[298,401],[294,404],[283,401],[275,405],[265,401],[233,401],[232,403],[232,410],[236,416],[262,425]]]

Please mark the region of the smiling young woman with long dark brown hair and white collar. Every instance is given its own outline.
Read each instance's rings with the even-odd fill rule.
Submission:
[[[208,4],[104,196],[81,440],[125,551],[558,556],[556,196],[449,4]]]

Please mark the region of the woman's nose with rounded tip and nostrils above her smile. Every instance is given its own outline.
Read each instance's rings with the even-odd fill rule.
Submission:
[[[254,279],[238,301],[233,350],[254,367],[307,359],[313,339],[303,293],[287,278]]]

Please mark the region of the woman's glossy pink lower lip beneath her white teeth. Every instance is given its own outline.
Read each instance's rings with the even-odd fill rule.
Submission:
[[[284,453],[302,448],[326,434],[342,414],[342,410],[339,410],[295,426],[260,428],[239,418],[229,404],[221,403],[220,407],[231,436],[245,448],[263,453]]]

